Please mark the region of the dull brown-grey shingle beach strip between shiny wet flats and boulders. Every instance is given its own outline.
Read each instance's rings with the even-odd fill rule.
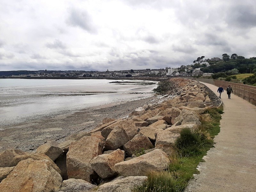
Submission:
[[[117,119],[128,116],[137,107],[154,102],[155,99],[156,97],[149,97],[129,102],[115,102],[97,108],[86,108],[72,114],[4,126],[4,130],[0,131],[0,152],[10,148],[34,151],[47,140],[61,142],[73,133],[92,130],[105,117]]]

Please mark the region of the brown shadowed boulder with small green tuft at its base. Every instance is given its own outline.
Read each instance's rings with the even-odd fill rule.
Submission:
[[[136,151],[139,151],[141,148],[150,149],[153,148],[153,144],[148,139],[148,137],[141,135],[138,137],[134,137],[132,140],[128,141],[124,144],[124,151],[128,153],[128,155],[132,155]]]

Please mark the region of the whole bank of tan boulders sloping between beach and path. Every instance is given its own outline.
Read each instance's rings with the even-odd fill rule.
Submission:
[[[108,116],[91,131],[74,133],[61,143],[48,141],[36,153],[3,151],[0,191],[132,192],[148,172],[162,171],[172,162],[169,155],[180,131],[195,130],[204,111],[220,104],[203,84],[169,81],[172,90],[150,98],[127,118]],[[145,154],[136,155],[141,148],[147,149]]]

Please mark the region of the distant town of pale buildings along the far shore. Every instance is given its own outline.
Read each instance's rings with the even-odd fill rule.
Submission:
[[[208,59],[209,60],[209,59]],[[220,61],[220,58],[212,58],[210,61]],[[4,78],[26,78],[26,77],[132,77],[132,76],[211,76],[213,73],[204,73],[201,67],[208,67],[210,64],[207,60],[200,62],[200,65],[181,65],[179,68],[160,68],[160,69],[130,69],[119,71],[61,71],[61,70],[38,70],[38,71],[0,71],[0,77]]]

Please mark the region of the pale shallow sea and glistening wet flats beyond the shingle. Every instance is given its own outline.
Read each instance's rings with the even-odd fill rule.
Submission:
[[[107,79],[0,79],[0,129],[153,96],[157,82]]]

